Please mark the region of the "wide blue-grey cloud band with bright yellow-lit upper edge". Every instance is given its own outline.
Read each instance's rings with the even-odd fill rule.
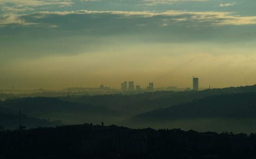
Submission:
[[[24,34],[29,39],[129,35],[158,42],[228,42],[255,40],[255,24],[256,16],[243,17],[232,12],[44,11],[1,15],[0,34]]]

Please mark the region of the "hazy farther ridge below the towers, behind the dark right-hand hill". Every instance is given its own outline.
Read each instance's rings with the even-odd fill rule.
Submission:
[[[126,112],[130,115],[137,115],[140,113],[149,112],[154,109],[167,108],[181,103],[188,103],[194,99],[200,99],[207,96],[248,92],[256,92],[256,85],[229,87],[222,89],[207,89],[198,92],[157,91],[153,93],[146,92],[142,94],[130,95],[113,94],[71,96],[71,98],[59,97],[59,99],[96,106],[105,106],[110,109]]]

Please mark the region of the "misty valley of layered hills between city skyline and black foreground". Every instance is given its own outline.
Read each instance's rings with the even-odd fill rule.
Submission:
[[[47,92],[41,95],[47,96]],[[70,92],[65,97],[1,93],[0,125],[5,129],[17,129],[20,110],[21,124],[28,129],[103,122],[130,128],[250,134],[256,131],[255,96],[256,85],[137,94],[78,96]]]

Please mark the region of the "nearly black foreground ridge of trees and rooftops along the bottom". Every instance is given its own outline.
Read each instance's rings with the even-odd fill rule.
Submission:
[[[0,132],[0,158],[253,159],[256,135],[69,125]]]

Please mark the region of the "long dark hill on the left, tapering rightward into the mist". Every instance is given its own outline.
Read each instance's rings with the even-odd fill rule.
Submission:
[[[124,113],[106,107],[63,101],[49,97],[8,99],[1,102],[2,107],[21,111],[31,117],[62,120],[65,124],[79,123],[115,123]]]

